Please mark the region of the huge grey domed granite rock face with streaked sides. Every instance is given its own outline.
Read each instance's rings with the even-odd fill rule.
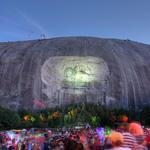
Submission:
[[[91,37],[0,43],[3,107],[100,102],[140,109],[149,98],[150,45]]]

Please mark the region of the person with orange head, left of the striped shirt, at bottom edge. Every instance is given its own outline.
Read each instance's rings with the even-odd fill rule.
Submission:
[[[113,132],[110,136],[112,147],[110,150],[131,150],[131,148],[123,147],[123,135],[119,132]]]

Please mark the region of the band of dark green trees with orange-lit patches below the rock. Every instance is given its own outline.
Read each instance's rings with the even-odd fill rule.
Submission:
[[[89,123],[92,127],[115,127],[120,122],[139,121],[150,125],[150,108],[140,111],[111,109],[100,104],[73,104],[63,108],[44,109],[37,112],[11,111],[0,107],[0,129],[72,127]]]

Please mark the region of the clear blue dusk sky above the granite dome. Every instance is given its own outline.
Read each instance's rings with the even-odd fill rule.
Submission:
[[[150,44],[150,0],[0,0],[0,42],[41,34]]]

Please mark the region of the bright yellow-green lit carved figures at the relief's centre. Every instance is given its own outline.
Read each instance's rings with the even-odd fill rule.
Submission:
[[[64,83],[69,87],[85,87],[96,80],[97,66],[90,62],[75,62],[64,66]],[[95,69],[95,70],[94,70]]]

